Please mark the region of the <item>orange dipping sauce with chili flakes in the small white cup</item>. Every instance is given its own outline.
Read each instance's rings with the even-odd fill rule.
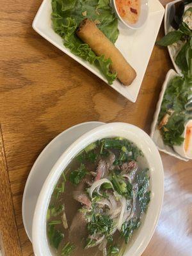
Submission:
[[[135,24],[141,12],[141,0],[115,0],[116,8],[122,19]]]

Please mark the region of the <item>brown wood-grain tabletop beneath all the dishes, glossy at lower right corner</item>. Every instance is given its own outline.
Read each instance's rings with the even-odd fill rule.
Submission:
[[[149,133],[164,77],[172,68],[167,50],[154,47],[138,100],[132,104],[33,31],[40,4],[1,1],[0,244],[7,256],[33,255],[22,223],[22,194],[45,145],[68,127],[92,120],[127,122]],[[161,26],[159,38],[163,33]],[[143,256],[191,256],[191,161],[161,157],[163,211]]]

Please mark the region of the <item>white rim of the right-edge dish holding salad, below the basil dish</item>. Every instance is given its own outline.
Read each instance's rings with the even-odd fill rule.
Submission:
[[[165,92],[170,80],[175,76],[179,76],[179,74],[177,74],[175,72],[175,70],[173,70],[173,69],[169,70],[169,72],[166,74],[166,78],[163,83],[161,93],[159,95],[159,101],[157,102],[156,112],[154,113],[154,120],[151,125],[150,137],[152,138],[154,143],[156,143],[156,146],[160,151],[162,151],[170,156],[176,157],[180,160],[189,161],[189,159],[187,159],[186,157],[182,157],[179,154],[177,154],[177,152],[175,152],[175,150],[173,150],[172,147],[169,147],[168,145],[164,145],[161,133],[159,132],[159,129],[157,128],[157,121],[158,121],[159,112],[161,110],[161,103],[163,101],[164,92]]]

